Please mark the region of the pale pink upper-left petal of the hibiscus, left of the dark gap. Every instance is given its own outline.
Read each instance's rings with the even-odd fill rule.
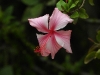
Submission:
[[[42,17],[28,19],[31,26],[37,28],[38,31],[47,33],[48,32],[48,18],[49,15],[46,14]]]

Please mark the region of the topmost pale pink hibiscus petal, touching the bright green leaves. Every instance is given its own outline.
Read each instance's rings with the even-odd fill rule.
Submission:
[[[73,20],[67,14],[62,13],[58,10],[58,8],[55,8],[50,17],[49,29],[59,30],[65,27],[68,23],[71,23],[72,21]]]

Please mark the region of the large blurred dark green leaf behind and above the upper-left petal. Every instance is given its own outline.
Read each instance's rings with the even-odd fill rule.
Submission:
[[[38,4],[36,6],[26,8],[24,15],[22,17],[22,21],[27,21],[29,18],[40,16],[43,12],[43,8],[43,4]]]

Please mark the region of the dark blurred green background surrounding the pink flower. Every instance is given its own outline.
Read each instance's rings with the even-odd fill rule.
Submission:
[[[100,60],[84,64],[88,49],[100,30],[100,1],[84,5],[89,19],[79,19],[72,30],[72,54],[62,48],[55,59],[34,53],[38,46],[35,28],[28,18],[52,14],[58,0],[0,0],[0,75],[100,75]]]

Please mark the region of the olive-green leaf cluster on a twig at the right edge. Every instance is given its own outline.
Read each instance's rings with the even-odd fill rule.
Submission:
[[[100,30],[97,32],[96,40],[98,43],[94,42],[94,45],[89,49],[89,52],[85,58],[85,63],[89,63],[93,59],[100,59]]]

